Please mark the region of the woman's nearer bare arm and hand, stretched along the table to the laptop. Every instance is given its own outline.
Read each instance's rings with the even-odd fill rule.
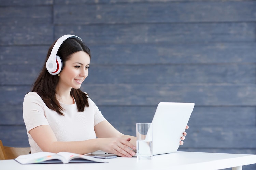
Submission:
[[[106,122],[106,121],[103,121]],[[100,124],[100,123],[99,123]],[[107,124],[107,123],[106,123]],[[96,125],[97,126],[97,125]],[[111,125],[112,126],[112,125]],[[113,131],[113,126],[101,125],[99,128],[104,128],[102,131]],[[96,128],[98,129],[98,128]],[[100,131],[98,129],[98,131]],[[117,130],[116,130],[117,131]],[[118,131],[117,131],[118,132]],[[105,152],[111,152],[122,157],[131,157],[135,153],[129,149],[135,149],[129,138],[123,139],[119,135],[105,135],[105,138],[90,139],[85,141],[73,141],[73,142],[60,142],[48,125],[41,125],[33,128],[29,131],[30,135],[37,143],[37,145],[46,152],[72,152],[79,154],[91,153],[97,150],[103,150]],[[119,132],[120,133],[120,132]],[[121,134],[121,133],[120,133]]]

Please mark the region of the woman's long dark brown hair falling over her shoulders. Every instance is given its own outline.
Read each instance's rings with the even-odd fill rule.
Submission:
[[[56,87],[59,82],[59,76],[51,75],[46,69],[46,61],[48,60],[55,43],[56,41],[49,48],[44,67],[42,68],[38,78],[33,84],[32,92],[37,92],[37,94],[43,99],[48,108],[56,111],[60,115],[64,115],[61,112],[63,111],[63,108],[55,96]],[[71,55],[78,51],[86,52],[91,59],[90,49],[80,39],[72,37],[66,39],[61,44],[57,55],[61,58],[63,67],[65,67],[65,62],[70,59]],[[83,112],[85,107],[89,107],[88,96],[80,89],[72,88],[70,95],[73,96],[77,105],[77,110],[79,112]]]

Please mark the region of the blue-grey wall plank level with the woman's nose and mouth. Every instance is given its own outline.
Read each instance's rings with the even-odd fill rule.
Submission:
[[[0,65],[0,84],[31,85],[43,67],[43,62],[39,64]],[[89,84],[254,84],[255,76],[253,64],[91,65],[85,81]]]

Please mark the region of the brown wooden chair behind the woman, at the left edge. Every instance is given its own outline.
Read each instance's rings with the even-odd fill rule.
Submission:
[[[27,155],[30,147],[6,147],[0,140],[0,160],[15,159],[19,155]]]

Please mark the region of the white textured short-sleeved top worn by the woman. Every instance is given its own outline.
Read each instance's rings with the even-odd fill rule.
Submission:
[[[29,92],[23,101],[23,119],[26,125],[31,153],[42,152],[37,143],[28,133],[40,125],[51,126],[58,141],[82,141],[95,139],[94,126],[106,120],[95,103],[88,98],[89,107],[78,112],[75,104],[62,104],[62,113],[49,109],[36,92]]]

